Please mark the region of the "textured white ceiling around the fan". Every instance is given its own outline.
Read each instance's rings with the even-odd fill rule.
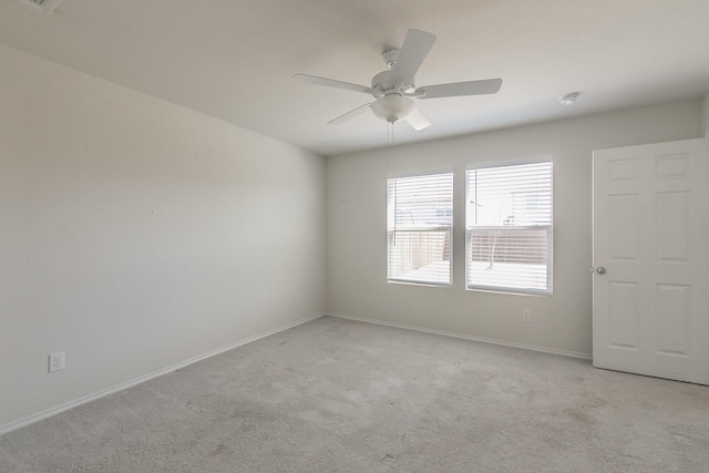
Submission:
[[[709,92],[708,0],[0,0],[1,43],[323,155],[383,146],[387,124],[327,125],[371,96],[291,75],[368,85],[410,28],[438,35],[418,84],[503,84],[417,102],[433,126],[397,143]]]

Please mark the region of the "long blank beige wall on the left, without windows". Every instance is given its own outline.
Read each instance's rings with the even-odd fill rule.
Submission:
[[[0,431],[325,311],[322,157],[7,47],[0,104]]]

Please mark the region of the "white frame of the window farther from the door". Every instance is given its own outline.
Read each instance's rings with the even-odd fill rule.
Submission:
[[[427,176],[433,177],[433,176],[441,176],[441,175],[450,175],[450,225],[438,225],[438,226],[425,226],[425,227],[412,226],[410,228],[403,228],[403,229],[398,228],[397,219],[395,219],[397,208],[395,208],[395,204],[392,205],[392,202],[391,202],[391,183],[398,179],[427,177]],[[453,214],[455,208],[454,188],[455,188],[454,168],[442,168],[442,169],[439,168],[439,169],[417,171],[417,172],[408,172],[408,173],[390,173],[387,175],[387,269],[386,269],[387,282],[413,285],[413,286],[441,287],[441,288],[450,288],[453,286],[453,265],[454,265],[454,255],[453,255],[454,215]],[[393,218],[393,225],[392,225],[392,218]],[[407,278],[407,277],[402,277],[402,275],[392,276],[391,245],[392,245],[392,238],[395,238],[397,233],[421,234],[421,233],[431,233],[431,232],[448,232],[448,237],[446,237],[448,247],[449,247],[448,281]]]

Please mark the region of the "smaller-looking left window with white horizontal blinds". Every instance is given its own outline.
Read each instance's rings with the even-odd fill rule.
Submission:
[[[451,285],[453,173],[392,177],[388,188],[388,279]]]

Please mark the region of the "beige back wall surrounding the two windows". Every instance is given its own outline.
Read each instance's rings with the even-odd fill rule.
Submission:
[[[328,158],[328,310],[589,354],[592,152],[699,136],[701,103],[690,101]],[[554,161],[554,295],[465,290],[466,165],[544,156]],[[388,172],[449,167],[456,173],[454,286],[387,284]],[[523,309],[532,310],[532,323],[522,322]]]

